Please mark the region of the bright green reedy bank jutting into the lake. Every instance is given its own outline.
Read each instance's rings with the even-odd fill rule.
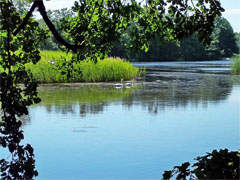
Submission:
[[[73,64],[73,73],[70,78],[61,74],[61,69],[57,68],[62,64],[65,58],[67,61],[71,54],[66,55],[61,51],[42,51],[41,60],[36,64],[27,64],[26,68],[30,70],[33,77],[42,83],[49,82],[107,82],[129,80],[137,77],[143,71],[133,67],[131,63],[122,59],[106,58],[92,61],[81,61]],[[51,61],[53,64],[49,63]]]

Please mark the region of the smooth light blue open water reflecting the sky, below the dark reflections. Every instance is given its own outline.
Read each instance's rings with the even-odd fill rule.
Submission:
[[[147,109],[110,103],[98,114],[30,109],[25,141],[35,148],[39,179],[159,179],[163,170],[213,149],[239,148],[239,94],[219,103]],[[237,99],[238,98],[238,99]]]

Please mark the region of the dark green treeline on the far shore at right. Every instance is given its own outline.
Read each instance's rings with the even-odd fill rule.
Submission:
[[[235,33],[231,24],[223,17],[215,21],[210,45],[203,45],[192,35],[180,41],[166,41],[155,37],[151,40],[149,50],[136,53],[126,46],[131,41],[131,29],[123,34],[120,42],[116,42],[110,56],[117,56],[131,61],[200,61],[217,60],[231,57],[239,53],[240,33]]]

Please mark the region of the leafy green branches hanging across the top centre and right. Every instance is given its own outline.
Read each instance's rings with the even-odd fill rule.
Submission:
[[[74,17],[62,20],[61,29],[75,45],[83,45],[73,61],[104,58],[129,27],[128,48],[147,51],[152,38],[181,39],[197,32],[200,41],[209,43],[214,19],[224,9],[218,0],[136,1],[80,0],[72,10]]]

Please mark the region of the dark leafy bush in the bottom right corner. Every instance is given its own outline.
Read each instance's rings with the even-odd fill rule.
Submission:
[[[227,149],[213,150],[212,153],[197,157],[195,169],[190,170],[189,162],[181,166],[174,166],[173,170],[165,171],[162,179],[238,179],[239,156],[237,151],[229,152]]]

